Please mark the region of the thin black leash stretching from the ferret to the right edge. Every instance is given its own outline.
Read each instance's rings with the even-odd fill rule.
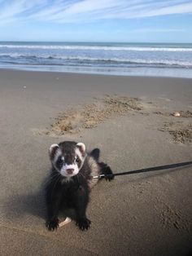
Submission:
[[[140,173],[145,173],[145,172],[148,172],[148,171],[166,170],[166,169],[172,169],[172,168],[178,168],[178,167],[181,167],[181,166],[190,166],[190,165],[192,165],[192,161],[184,161],[184,162],[181,162],[181,163],[167,165],[167,166],[155,166],[155,167],[144,168],[144,169],[140,169],[140,170],[129,170],[129,171],[125,171],[125,172],[117,173],[117,174],[100,174],[98,176],[93,176],[92,178],[93,179],[103,179],[103,178],[111,177],[111,176],[140,174]]]

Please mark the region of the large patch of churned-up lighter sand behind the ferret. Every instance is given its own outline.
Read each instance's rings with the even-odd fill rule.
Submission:
[[[36,130],[35,134],[50,136],[75,134],[81,130],[94,128],[111,117],[140,110],[142,110],[142,104],[138,98],[107,95],[103,99],[94,99],[93,104],[85,104],[60,113],[50,129],[38,132]]]

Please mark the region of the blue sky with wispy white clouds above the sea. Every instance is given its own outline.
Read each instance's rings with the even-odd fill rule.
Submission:
[[[192,42],[192,1],[0,0],[0,41]]]

